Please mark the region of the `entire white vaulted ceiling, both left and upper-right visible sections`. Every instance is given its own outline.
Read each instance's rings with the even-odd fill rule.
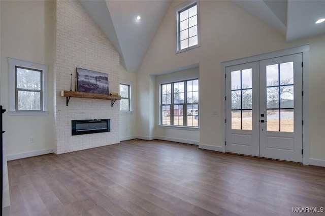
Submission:
[[[282,33],[287,41],[325,34],[325,1],[233,0],[247,13]],[[120,54],[129,72],[137,72],[169,8],[170,0],[84,1],[80,3]],[[136,17],[141,16],[137,21]]]

